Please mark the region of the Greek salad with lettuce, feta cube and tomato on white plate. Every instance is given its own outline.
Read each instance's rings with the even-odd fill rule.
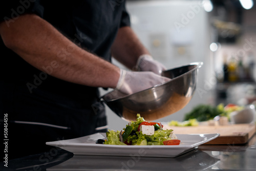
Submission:
[[[179,145],[180,140],[173,130],[163,130],[161,122],[147,122],[140,114],[122,131],[108,130],[106,140],[99,139],[97,144],[111,145]]]

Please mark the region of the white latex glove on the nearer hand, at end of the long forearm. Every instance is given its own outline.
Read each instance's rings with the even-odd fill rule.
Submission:
[[[149,71],[133,72],[120,69],[116,89],[124,94],[133,94],[169,80],[167,77]]]

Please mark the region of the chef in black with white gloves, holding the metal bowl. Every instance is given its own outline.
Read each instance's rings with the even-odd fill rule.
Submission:
[[[131,29],[123,0],[13,0],[0,8],[9,159],[46,152],[47,141],[105,132],[100,87],[132,94],[168,80]]]

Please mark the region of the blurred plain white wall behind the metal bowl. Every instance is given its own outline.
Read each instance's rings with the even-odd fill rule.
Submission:
[[[189,62],[204,62],[199,70],[197,91],[191,101],[184,109],[157,121],[182,121],[185,113],[195,105],[214,101],[210,90],[214,88],[215,77],[210,65],[209,20],[200,1],[130,1],[126,8],[131,16],[132,28],[144,46],[167,69]],[[113,63],[123,68],[117,61]],[[110,129],[125,127],[126,121],[108,107],[106,110]]]

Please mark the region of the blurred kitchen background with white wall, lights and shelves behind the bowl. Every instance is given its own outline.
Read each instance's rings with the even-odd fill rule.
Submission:
[[[204,62],[191,101],[157,121],[183,121],[198,104],[255,102],[255,0],[130,0],[126,8],[144,46],[167,69]],[[113,63],[125,69],[115,59]],[[111,130],[121,130],[127,124],[108,106],[106,114]]]

